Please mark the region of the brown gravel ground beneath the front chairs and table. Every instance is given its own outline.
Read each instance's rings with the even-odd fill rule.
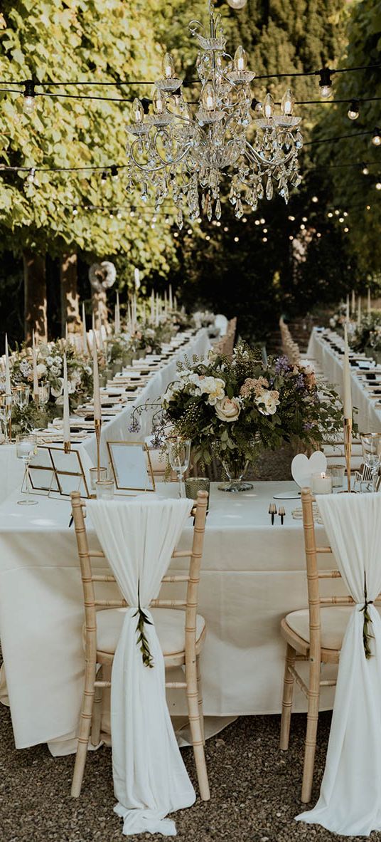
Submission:
[[[320,716],[319,749],[312,803],[325,763],[331,714]],[[349,839],[319,826],[296,823],[305,717],[294,714],[290,749],[278,749],[279,717],[240,717],[208,740],[206,757],[211,800],[199,799],[176,813],[179,842],[334,842]],[[45,746],[16,751],[8,708],[0,706],[0,839],[1,842],[111,842],[123,839],[121,820],[113,813],[111,753],[89,754],[82,795],[69,797],[73,758],[52,758]],[[182,749],[197,789],[192,749]],[[136,840],[163,839],[140,834]],[[354,837],[350,837],[354,839]],[[372,842],[381,840],[373,833]]]

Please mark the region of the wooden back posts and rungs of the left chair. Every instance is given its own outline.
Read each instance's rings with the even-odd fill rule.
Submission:
[[[185,640],[188,653],[196,645],[196,616],[198,610],[198,584],[201,560],[204,549],[204,533],[208,492],[198,491],[197,500],[191,512],[193,517],[193,541],[188,550],[174,550],[172,558],[188,558],[188,573],[163,576],[161,582],[167,584],[187,584],[187,594],[183,600],[152,600],[152,608],[176,608],[185,610]],[[71,511],[77,537],[77,550],[81,566],[83,601],[86,623],[86,646],[90,654],[95,654],[97,646],[97,608],[126,608],[127,602],[120,596],[116,600],[101,600],[95,594],[94,584],[116,584],[112,573],[93,573],[92,558],[104,558],[102,550],[93,550],[88,546],[85,524],[86,504],[78,491],[71,492]]]

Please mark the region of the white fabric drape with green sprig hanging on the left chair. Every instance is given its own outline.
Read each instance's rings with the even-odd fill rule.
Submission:
[[[129,603],[116,648],[111,686],[114,807],[123,832],[176,834],[165,818],[195,801],[167,708],[164,659],[148,605],[181,535],[193,501],[94,500],[87,504],[103,552]],[[138,599],[139,591],[139,599]],[[145,634],[153,659],[147,667],[137,642],[138,602],[152,625]]]

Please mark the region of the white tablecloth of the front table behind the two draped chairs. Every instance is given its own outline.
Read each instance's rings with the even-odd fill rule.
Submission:
[[[300,500],[284,501],[283,526],[279,517],[271,525],[268,504],[273,493],[295,488],[294,482],[259,482],[235,496],[212,486],[199,594],[208,628],[202,658],[206,715],[280,711],[279,623],[288,611],[307,605],[307,587],[303,529],[291,515]],[[161,486],[159,493],[173,496],[177,484]],[[83,609],[70,504],[39,498],[38,506],[21,509],[16,499],[0,506],[0,636],[15,741],[24,748],[75,735]],[[189,546],[191,530],[189,525],[180,546]],[[321,530],[317,526],[320,539]],[[92,534],[90,539],[95,542]],[[178,563],[172,562],[176,570]],[[329,556],[326,563],[330,567]],[[340,592],[340,582],[333,584]],[[176,598],[173,589],[171,594]],[[330,690],[321,701],[331,705]],[[181,693],[170,695],[169,703],[172,714],[186,712]],[[299,691],[296,709],[304,709]]]

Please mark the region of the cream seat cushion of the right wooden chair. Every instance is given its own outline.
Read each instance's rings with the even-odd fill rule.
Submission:
[[[381,609],[378,608],[381,615]],[[351,616],[353,605],[330,605],[320,608],[321,634],[320,642],[323,649],[341,649],[342,639]],[[310,616],[308,608],[292,611],[286,617],[287,625],[305,642],[310,642]]]

